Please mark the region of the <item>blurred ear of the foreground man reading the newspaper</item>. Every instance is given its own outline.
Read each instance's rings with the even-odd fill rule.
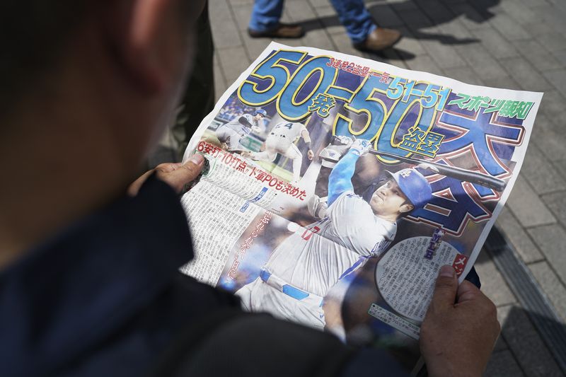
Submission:
[[[105,14],[108,42],[119,69],[137,91],[154,95],[178,77],[186,54],[187,24],[179,2],[187,0],[110,1]]]

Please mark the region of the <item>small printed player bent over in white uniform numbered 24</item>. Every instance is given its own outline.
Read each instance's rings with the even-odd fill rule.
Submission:
[[[303,163],[303,153],[294,144],[299,137],[302,137],[308,146],[307,157],[312,160],[314,153],[311,149],[311,137],[308,130],[302,123],[279,122],[271,129],[265,140],[265,150],[260,152],[244,152],[242,156],[249,157],[254,161],[273,162],[277,153],[293,161],[293,182],[299,182],[301,166]]]

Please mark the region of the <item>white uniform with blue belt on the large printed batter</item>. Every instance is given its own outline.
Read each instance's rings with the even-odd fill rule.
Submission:
[[[247,311],[323,328],[323,297],[368,257],[383,253],[396,231],[397,224],[375,216],[362,197],[342,192],[324,219],[286,238],[260,277],[236,294]]]

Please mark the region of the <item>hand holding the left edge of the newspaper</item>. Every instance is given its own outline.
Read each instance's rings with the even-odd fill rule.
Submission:
[[[156,173],[157,178],[173,187],[173,190],[180,193],[188,183],[195,180],[204,166],[204,157],[195,153],[186,163],[161,163],[155,169],[149,170],[141,175],[128,187],[128,195],[134,197],[146,179]]]

